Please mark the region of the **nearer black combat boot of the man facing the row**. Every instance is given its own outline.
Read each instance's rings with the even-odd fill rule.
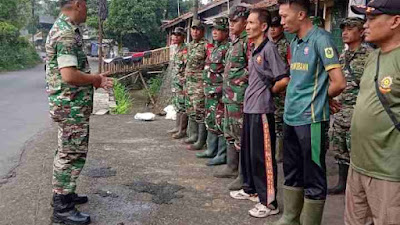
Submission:
[[[68,224],[68,225],[81,225],[89,224],[90,216],[79,212],[75,208],[75,203],[73,202],[73,194],[68,195],[53,195],[53,222]]]

